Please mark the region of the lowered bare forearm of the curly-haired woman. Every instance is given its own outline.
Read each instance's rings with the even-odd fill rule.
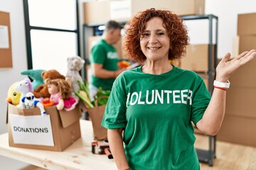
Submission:
[[[122,141],[122,133],[119,129],[108,129],[107,139],[110,143],[110,149],[114,157],[114,162],[117,165],[117,169],[124,170],[129,169],[127,158],[124,154],[124,145]]]

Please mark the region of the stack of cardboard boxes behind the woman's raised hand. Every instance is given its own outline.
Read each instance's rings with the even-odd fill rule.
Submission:
[[[256,47],[256,13],[238,15],[238,37],[233,55]],[[226,115],[218,140],[256,147],[256,60],[247,63],[230,77]]]

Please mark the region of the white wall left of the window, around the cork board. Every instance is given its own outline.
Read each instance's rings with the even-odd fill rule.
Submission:
[[[7,132],[6,96],[9,86],[15,81],[24,79],[20,72],[27,69],[26,38],[22,0],[1,0],[0,11],[10,13],[11,47],[13,67],[0,69],[0,134]],[[26,164],[0,157],[1,169],[18,169]]]

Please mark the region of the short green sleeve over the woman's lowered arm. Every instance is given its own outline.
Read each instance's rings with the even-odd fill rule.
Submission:
[[[102,126],[107,129],[125,128],[126,120],[126,90],[122,75],[115,79],[107,101]]]

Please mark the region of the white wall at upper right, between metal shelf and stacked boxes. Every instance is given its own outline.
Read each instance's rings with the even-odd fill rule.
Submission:
[[[238,14],[256,13],[256,1],[206,0],[206,13],[218,16],[218,57],[222,58],[227,52],[232,52],[232,40],[237,35]]]

